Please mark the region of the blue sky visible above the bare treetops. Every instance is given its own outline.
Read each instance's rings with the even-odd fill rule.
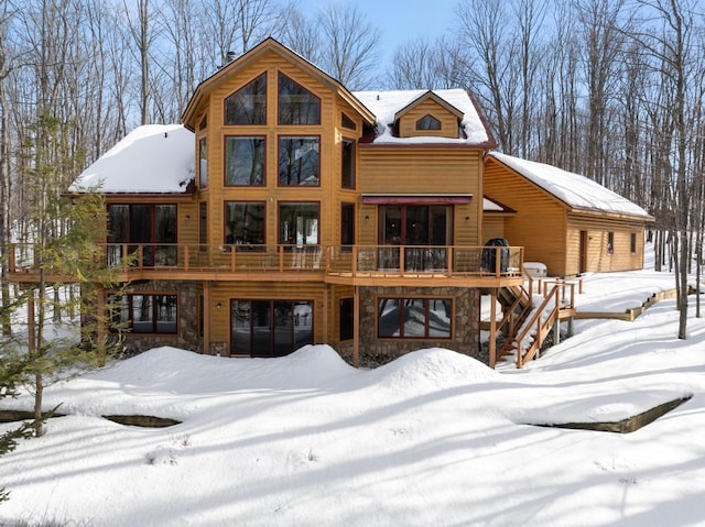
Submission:
[[[300,0],[302,11],[318,11],[335,0]],[[357,6],[382,32],[384,47],[380,59],[387,66],[398,45],[415,36],[431,41],[452,28],[456,0],[348,0]]]

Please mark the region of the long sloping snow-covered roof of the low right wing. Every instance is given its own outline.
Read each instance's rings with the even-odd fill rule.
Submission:
[[[490,152],[488,155],[570,207],[651,219],[651,216],[637,204],[579,174],[499,152]]]

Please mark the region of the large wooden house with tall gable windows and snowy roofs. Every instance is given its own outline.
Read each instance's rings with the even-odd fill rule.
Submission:
[[[329,343],[355,364],[432,345],[477,356],[481,293],[507,312],[490,333],[511,337],[531,304],[525,259],[553,275],[639,268],[650,219],[494,147],[465,90],[351,92],[268,39],[196,88],[183,125],[138,128],[76,188],[106,194],[128,345],[276,356]],[[561,178],[603,201],[576,205]],[[512,246],[485,249],[489,238]]]

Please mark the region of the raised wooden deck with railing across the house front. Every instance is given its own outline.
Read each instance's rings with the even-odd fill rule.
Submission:
[[[96,245],[120,282],[321,282],[360,286],[506,287],[523,282],[523,248],[325,245]],[[15,244],[9,278],[70,282],[32,245]]]

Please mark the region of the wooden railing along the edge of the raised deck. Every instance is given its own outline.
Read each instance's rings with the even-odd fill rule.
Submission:
[[[126,274],[161,272],[284,273],[358,275],[421,273],[433,275],[517,276],[523,248],[467,245],[199,245],[199,244],[96,244],[96,259]],[[8,257],[10,273],[32,274],[40,264],[31,244],[13,244]]]

